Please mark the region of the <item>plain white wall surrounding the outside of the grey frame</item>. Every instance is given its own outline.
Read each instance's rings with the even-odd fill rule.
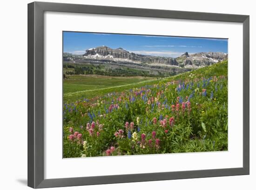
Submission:
[[[45,0],[41,0],[45,1]],[[252,36],[256,29],[256,12],[253,1],[183,0],[183,1],[146,1],[146,0],[47,0],[50,2],[91,4],[117,7],[154,8],[180,11],[198,11],[212,13],[231,13],[250,15],[250,175],[233,177],[212,177],[158,182],[122,183],[94,185],[89,187],[67,187],[70,190],[130,190],[130,189],[189,189],[216,190],[256,189],[256,61],[253,50],[256,39]],[[27,187],[27,3],[30,0],[1,1],[0,30],[0,187],[1,189],[26,190]],[[242,117],[242,116],[241,116]],[[157,163],[155,163],[157,164]],[[168,163],[175,164],[175,163]],[[148,164],[150,167],[150,164]],[[79,166],[78,166],[79,167]]]

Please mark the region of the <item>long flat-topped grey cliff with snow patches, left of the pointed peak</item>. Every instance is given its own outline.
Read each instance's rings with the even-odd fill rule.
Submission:
[[[178,66],[178,62],[174,58],[135,54],[133,52],[128,52],[121,47],[117,49],[112,49],[107,46],[91,48],[86,50],[86,53],[83,56],[88,59],[107,59],[148,64],[159,63]]]

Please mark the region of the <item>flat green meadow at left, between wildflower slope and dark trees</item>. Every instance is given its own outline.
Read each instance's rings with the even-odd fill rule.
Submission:
[[[110,77],[102,75],[71,75],[64,79],[64,102],[121,92],[158,81],[152,77]]]

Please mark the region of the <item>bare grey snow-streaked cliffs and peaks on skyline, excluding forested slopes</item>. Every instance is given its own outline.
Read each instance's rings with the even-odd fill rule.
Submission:
[[[130,62],[137,64],[150,64],[151,66],[177,66],[185,68],[198,68],[209,66],[224,59],[228,54],[222,52],[199,52],[189,55],[185,52],[180,57],[159,57],[135,54],[123,48],[112,49],[107,46],[90,48],[83,54],[84,59],[109,60],[116,62]]]

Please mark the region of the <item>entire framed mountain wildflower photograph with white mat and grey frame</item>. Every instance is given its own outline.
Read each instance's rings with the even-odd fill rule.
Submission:
[[[248,15],[28,4],[28,186],[248,174]]]

